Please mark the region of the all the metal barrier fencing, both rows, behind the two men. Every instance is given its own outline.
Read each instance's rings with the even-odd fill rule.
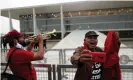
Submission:
[[[34,61],[32,62],[37,72],[37,80],[73,80],[76,67],[71,65],[70,57],[73,55],[74,50],[75,49],[47,49],[46,51],[48,53],[45,54],[45,60],[35,61],[35,63]],[[3,71],[6,63],[5,53],[7,53],[8,49],[0,49],[0,51],[1,70]],[[37,49],[34,51],[36,52]],[[131,53],[129,54],[128,51]],[[120,60],[126,63],[121,64],[122,80],[133,80],[133,48],[123,48],[122,53],[124,54],[120,56]],[[11,73],[10,69],[8,69],[8,72]]]

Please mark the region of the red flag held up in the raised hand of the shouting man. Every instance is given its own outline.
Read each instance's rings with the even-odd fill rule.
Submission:
[[[119,62],[120,42],[119,37],[115,31],[109,31],[104,44],[104,52],[106,53],[107,60],[104,67],[113,66]]]

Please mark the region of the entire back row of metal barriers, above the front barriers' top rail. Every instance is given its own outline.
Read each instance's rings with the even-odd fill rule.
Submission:
[[[103,49],[103,48],[102,48]],[[133,47],[121,47],[121,51],[119,51],[120,56],[120,63],[121,64],[133,64]],[[7,53],[8,49],[0,49],[1,59],[4,63],[5,60],[5,53]],[[34,52],[37,49],[33,50]],[[73,55],[75,49],[46,49],[47,54],[45,54],[45,60],[40,61],[40,63],[44,64],[71,64],[70,57]],[[50,61],[54,60],[54,61]]]

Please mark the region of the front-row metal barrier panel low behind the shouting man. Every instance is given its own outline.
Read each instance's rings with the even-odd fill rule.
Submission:
[[[121,65],[122,80],[133,80],[133,65]],[[76,66],[57,65],[58,80],[74,80]]]

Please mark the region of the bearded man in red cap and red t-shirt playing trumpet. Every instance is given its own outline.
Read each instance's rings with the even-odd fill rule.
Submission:
[[[12,54],[11,63],[9,67],[13,74],[24,78],[25,80],[37,80],[36,71],[31,61],[42,60],[44,57],[43,48],[43,36],[41,34],[37,35],[37,40],[39,42],[38,52],[32,52],[34,47],[34,41],[30,41],[27,49],[24,49],[24,35],[16,30],[12,30],[5,35],[6,42],[9,43],[10,49],[7,53],[7,59]]]

